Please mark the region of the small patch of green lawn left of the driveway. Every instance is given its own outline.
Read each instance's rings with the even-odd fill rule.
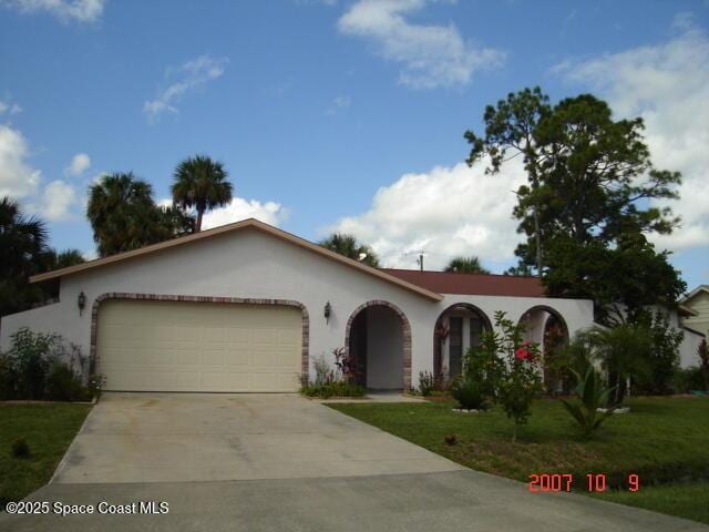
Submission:
[[[0,508],[44,485],[91,410],[90,405],[0,405]],[[14,458],[24,438],[30,457]]]

